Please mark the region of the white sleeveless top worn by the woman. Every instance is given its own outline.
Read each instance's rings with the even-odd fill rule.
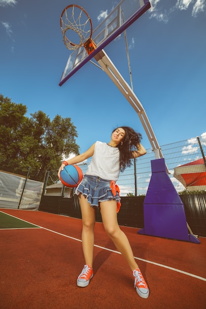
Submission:
[[[119,177],[119,170],[119,149],[97,141],[86,174],[116,181]]]

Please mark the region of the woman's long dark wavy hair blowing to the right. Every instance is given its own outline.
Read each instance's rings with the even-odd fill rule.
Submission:
[[[131,151],[138,151],[137,144],[140,143],[142,136],[140,133],[137,133],[133,128],[129,126],[119,126],[118,128],[122,128],[125,130],[125,136],[122,140],[123,144],[119,143],[117,148],[119,148],[119,167],[120,171],[123,172],[124,169],[132,164]],[[116,128],[116,129],[118,129]],[[114,129],[112,133],[116,130]]]

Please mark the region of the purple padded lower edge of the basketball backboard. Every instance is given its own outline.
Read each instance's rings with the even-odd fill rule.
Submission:
[[[90,55],[88,55],[73,70],[71,70],[66,77],[61,79],[59,83],[60,86],[62,86],[81,67],[83,67],[89,60],[91,60],[95,55],[97,55],[106,45],[108,45],[112,40],[117,38],[123,31],[125,31],[129,26],[131,26],[143,13],[145,13],[151,7],[149,0],[143,0],[143,1],[144,5],[141,8],[139,8],[137,12],[135,12],[121,27],[119,27],[114,33],[112,33],[111,36],[105,39],[100,46],[98,46]]]

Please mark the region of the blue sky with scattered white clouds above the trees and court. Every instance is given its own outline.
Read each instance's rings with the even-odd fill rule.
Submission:
[[[161,146],[206,134],[206,1],[150,3],[127,39],[134,91]],[[115,1],[0,0],[0,93],[26,105],[28,116],[41,110],[51,119],[70,117],[80,152],[96,140],[109,142],[121,125],[141,132],[151,148],[136,112],[92,63],[59,86],[71,53],[60,28],[69,4],[84,7],[96,27]],[[130,84],[124,36],[104,50]]]

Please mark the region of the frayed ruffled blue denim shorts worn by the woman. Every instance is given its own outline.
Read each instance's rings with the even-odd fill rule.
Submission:
[[[110,181],[102,179],[98,176],[84,175],[75,190],[75,194],[81,193],[88,199],[91,207],[99,207],[99,202],[115,199],[120,202],[119,194],[116,192],[114,196],[110,187]]]

